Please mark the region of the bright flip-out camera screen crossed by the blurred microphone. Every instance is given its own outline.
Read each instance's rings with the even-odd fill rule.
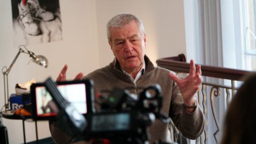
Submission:
[[[66,101],[70,102],[80,114],[85,115],[94,110],[92,85],[93,82],[89,80],[58,82],[57,89]],[[59,110],[43,83],[33,84],[30,89],[33,119],[54,119]]]

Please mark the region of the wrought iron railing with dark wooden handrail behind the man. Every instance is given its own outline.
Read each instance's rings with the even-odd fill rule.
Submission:
[[[158,59],[156,63],[158,67],[166,68],[176,73],[187,73],[187,74],[189,73],[190,64],[186,62],[186,57],[184,54],[179,54],[177,57]],[[209,135],[208,135],[208,129],[207,129],[208,128],[207,112],[210,110],[207,110],[207,105],[206,105],[206,99],[209,99],[209,98],[211,100],[211,111],[214,117],[215,125],[217,126],[217,131],[215,131],[213,135],[210,135],[210,137],[214,137],[215,142],[218,143],[216,135],[220,131],[219,129],[220,124],[216,114],[214,97],[219,97],[220,88],[226,90],[226,94],[227,94],[226,105],[228,107],[230,102],[230,97],[234,97],[235,91],[238,89],[238,87],[235,87],[235,81],[243,81],[242,77],[251,72],[246,70],[237,70],[237,69],[206,66],[206,65],[201,65],[201,70],[202,70],[202,76],[231,80],[231,86],[203,82],[201,85],[201,91],[198,91],[198,103],[203,109],[204,116],[205,116],[205,131],[201,135],[201,137],[196,140],[196,143],[199,143],[199,142],[201,144],[209,143],[208,142]],[[208,97],[205,92],[206,86],[211,87],[210,97]],[[230,90],[231,90],[231,94],[230,94]],[[208,109],[210,109],[209,106],[208,106]],[[181,143],[182,141],[180,142],[180,144]],[[187,143],[190,143],[189,140],[187,140]]]

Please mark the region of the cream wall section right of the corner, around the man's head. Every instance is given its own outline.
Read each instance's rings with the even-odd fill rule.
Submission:
[[[186,55],[183,1],[108,0],[96,1],[96,5],[101,67],[113,61],[106,24],[119,13],[133,13],[141,19],[147,35],[146,54],[154,63],[159,58]]]

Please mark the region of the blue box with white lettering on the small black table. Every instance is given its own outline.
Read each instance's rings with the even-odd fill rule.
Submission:
[[[26,104],[28,104],[28,103],[30,103],[30,101],[26,101]],[[11,110],[16,110],[16,109],[22,108],[23,107],[22,96],[17,95],[15,93],[11,94],[10,107],[11,107]]]

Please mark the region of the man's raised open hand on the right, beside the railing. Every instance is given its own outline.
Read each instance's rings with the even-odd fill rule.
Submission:
[[[199,85],[203,82],[201,75],[201,66],[197,65],[196,68],[194,60],[190,60],[190,70],[187,77],[180,79],[172,73],[169,74],[173,81],[179,86],[180,93],[183,97],[183,102],[187,106],[193,106],[195,103],[195,94],[199,89]]]

